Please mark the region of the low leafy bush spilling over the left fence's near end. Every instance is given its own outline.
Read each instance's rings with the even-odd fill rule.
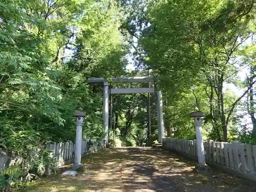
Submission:
[[[0,172],[2,188],[19,185],[38,175],[43,175],[46,167],[56,170],[57,158],[51,154],[50,150],[45,150],[46,143],[41,140],[40,132],[13,131],[2,142],[3,150],[13,155],[8,168]]]

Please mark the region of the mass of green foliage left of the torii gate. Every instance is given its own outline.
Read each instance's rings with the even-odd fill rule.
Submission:
[[[25,176],[44,173],[47,143],[74,141],[79,107],[83,138],[102,137],[102,88],[87,78],[124,72],[121,18],[104,0],[0,2],[1,145]]]

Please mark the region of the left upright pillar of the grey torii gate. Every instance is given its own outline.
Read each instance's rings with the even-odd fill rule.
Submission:
[[[103,84],[103,127],[105,131],[105,144],[109,142],[109,83]]]

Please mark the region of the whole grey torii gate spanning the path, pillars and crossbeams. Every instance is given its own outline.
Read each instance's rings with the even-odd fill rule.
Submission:
[[[154,76],[145,77],[120,77],[111,78],[113,83],[133,83],[133,82],[156,82]],[[103,84],[103,127],[105,131],[105,143],[109,141],[109,94],[130,94],[130,93],[156,93],[157,94],[157,127],[158,127],[158,142],[162,143],[164,138],[164,122],[163,122],[163,101],[162,93],[155,88],[116,88],[109,89],[109,82],[103,78],[89,78],[90,84]]]

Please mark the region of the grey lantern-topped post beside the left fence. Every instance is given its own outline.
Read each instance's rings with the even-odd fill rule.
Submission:
[[[84,119],[84,112],[80,108],[79,111],[74,113],[76,117],[76,143],[75,143],[75,160],[74,160],[74,169],[78,167],[83,167],[81,164],[81,148],[82,148],[82,125]]]

